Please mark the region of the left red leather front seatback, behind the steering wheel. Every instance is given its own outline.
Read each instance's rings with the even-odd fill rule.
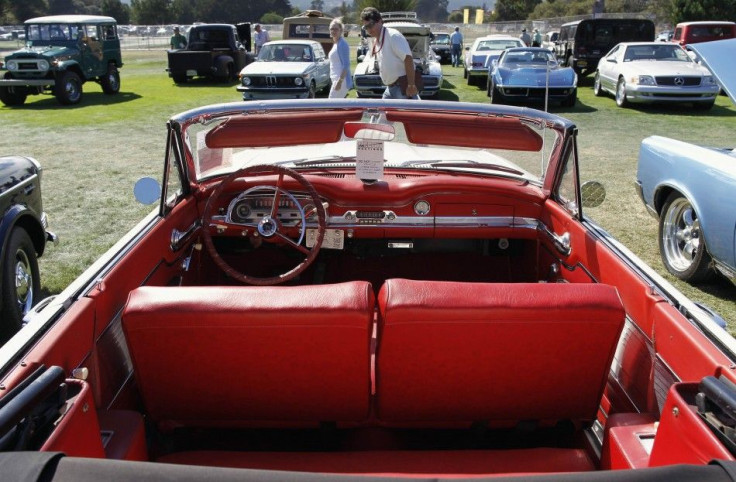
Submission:
[[[301,426],[367,419],[374,309],[367,282],[142,287],[122,321],[153,420]]]

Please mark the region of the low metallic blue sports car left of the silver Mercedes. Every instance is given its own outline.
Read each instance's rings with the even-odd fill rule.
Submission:
[[[560,67],[554,54],[541,47],[507,49],[493,62],[488,96],[493,104],[557,102],[575,105],[578,76],[571,67]]]

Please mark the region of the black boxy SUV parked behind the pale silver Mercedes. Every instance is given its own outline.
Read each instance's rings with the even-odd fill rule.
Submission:
[[[651,42],[654,22],[638,18],[593,18],[560,27],[557,60],[578,75],[595,72],[598,61],[620,42]]]

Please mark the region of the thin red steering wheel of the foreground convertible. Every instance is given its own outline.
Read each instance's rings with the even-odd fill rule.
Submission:
[[[217,209],[217,206],[219,203],[217,200],[220,198],[223,192],[227,191],[227,188],[230,184],[232,184],[235,179],[241,178],[241,177],[247,177],[247,176],[263,176],[263,175],[277,175],[278,180],[276,181],[276,186],[271,185],[259,185],[255,186],[251,189],[249,189],[247,192],[253,192],[256,190],[270,190],[273,191],[273,202],[271,204],[271,212],[262,218],[259,218],[257,222],[252,224],[246,224],[246,223],[237,223],[230,219],[218,219],[216,221],[213,221],[212,216],[215,214],[214,211]],[[286,229],[281,224],[281,221],[279,221],[278,217],[278,210],[279,210],[279,201],[282,196],[286,196],[292,200],[295,200],[294,196],[289,193],[287,190],[283,189],[282,186],[284,184],[284,177],[288,176],[292,179],[296,180],[303,188],[304,191],[309,194],[309,197],[311,198],[315,208],[314,211],[317,213],[317,237],[314,241],[314,246],[312,248],[307,248],[306,246],[302,246],[301,241],[304,238],[304,230],[306,228],[306,220],[308,217],[310,217],[313,212],[305,212],[304,207],[301,206],[298,202],[295,202],[294,204],[297,206],[297,209],[299,210],[300,220],[299,223],[301,224],[300,229],[300,236],[299,239],[294,240],[291,237],[289,237],[286,234]],[[215,261],[215,264],[220,267],[228,276],[231,278],[234,278],[242,283],[245,284],[251,284],[251,285],[259,285],[259,286],[268,286],[268,285],[275,285],[279,283],[284,283],[286,281],[292,280],[295,277],[297,277],[299,274],[301,274],[309,265],[314,262],[314,260],[317,258],[317,253],[319,253],[319,249],[322,247],[322,241],[325,237],[325,229],[326,229],[326,222],[325,222],[325,208],[322,205],[322,201],[319,198],[319,195],[317,194],[317,191],[314,189],[314,186],[310,184],[309,181],[307,181],[304,176],[299,174],[298,172],[289,169],[287,167],[283,166],[274,166],[274,165],[257,165],[257,166],[250,166],[245,167],[243,169],[240,169],[238,171],[233,172],[228,177],[222,180],[220,182],[220,185],[215,188],[215,190],[210,195],[209,200],[207,201],[207,206],[205,207],[204,214],[202,215],[202,237],[204,238],[204,244],[207,247],[207,251],[209,252],[210,256],[212,256],[212,259]],[[300,253],[302,253],[305,258],[303,261],[301,261],[298,265],[296,265],[293,269],[280,274],[278,276],[272,276],[269,278],[261,278],[256,276],[249,276],[245,273],[233,268],[230,266],[224,259],[222,259],[222,256],[220,256],[220,253],[215,248],[214,243],[212,242],[212,233],[211,228],[215,228],[217,232],[224,233],[227,231],[238,231],[239,233],[247,233],[246,236],[251,236],[254,238],[260,238],[263,241],[271,242],[271,243],[281,243],[286,246],[289,246]]]

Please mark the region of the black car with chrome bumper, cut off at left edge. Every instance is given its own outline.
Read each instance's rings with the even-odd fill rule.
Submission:
[[[0,157],[0,345],[20,330],[23,316],[40,301],[38,257],[48,219],[41,202],[41,165],[33,158]]]

